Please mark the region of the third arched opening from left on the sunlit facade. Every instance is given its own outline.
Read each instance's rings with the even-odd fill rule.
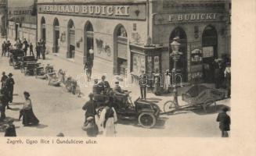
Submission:
[[[74,58],[75,51],[75,28],[73,20],[67,23],[67,58]]]

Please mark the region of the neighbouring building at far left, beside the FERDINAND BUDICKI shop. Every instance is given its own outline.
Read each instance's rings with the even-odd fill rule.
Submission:
[[[37,41],[37,12],[36,2],[29,0],[23,3],[9,0],[8,3],[8,37],[12,40],[24,38],[35,44]]]

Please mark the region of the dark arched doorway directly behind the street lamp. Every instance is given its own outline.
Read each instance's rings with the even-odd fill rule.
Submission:
[[[175,30],[172,30],[171,36],[169,38],[169,49],[172,52],[171,49],[171,42],[174,41],[173,39],[175,37],[178,37],[177,40],[178,43],[180,43],[179,51],[182,52],[182,55],[178,59],[177,66],[176,66],[176,72],[182,74],[183,81],[187,81],[187,41],[186,41],[186,32],[181,27],[176,27]],[[170,71],[173,69],[173,59],[170,59]]]

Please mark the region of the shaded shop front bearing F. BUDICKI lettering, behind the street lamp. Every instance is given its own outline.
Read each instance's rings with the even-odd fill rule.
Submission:
[[[174,68],[170,55],[171,42],[175,38],[180,44],[179,52],[182,52],[176,66],[182,82],[212,83],[213,62],[223,54],[230,55],[226,48],[230,43],[229,37],[223,33],[227,30],[229,13],[223,2],[212,5],[211,9],[206,9],[209,2],[202,2],[201,5],[190,3],[177,3],[175,7],[162,4],[163,10],[156,10],[158,13],[153,16],[153,43],[164,47],[161,53],[162,72]],[[188,9],[184,9],[186,7]]]

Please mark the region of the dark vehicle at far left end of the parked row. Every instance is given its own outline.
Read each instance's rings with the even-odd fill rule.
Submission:
[[[11,49],[9,57],[9,66],[13,66],[13,69],[20,69],[24,51],[19,49]]]

